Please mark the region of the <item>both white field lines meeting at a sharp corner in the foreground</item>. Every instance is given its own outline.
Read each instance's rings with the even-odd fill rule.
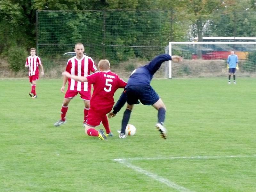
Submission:
[[[144,169],[141,169],[140,167],[138,166],[135,166],[135,165],[132,165],[131,163],[129,163],[128,161],[132,161],[132,160],[158,160],[158,159],[214,159],[214,158],[245,158],[245,157],[256,157],[256,155],[237,155],[237,156],[180,156],[180,157],[149,157],[149,158],[141,158],[141,157],[135,157],[135,158],[120,158],[120,159],[114,159],[114,161],[118,162],[118,163],[121,163],[121,164],[124,164],[125,166],[137,171],[137,172],[140,172],[140,173],[143,173],[145,175],[147,175],[148,177],[151,177],[152,179],[154,180],[157,180],[165,185],[167,185],[168,187],[170,188],[174,188],[180,192],[193,192],[187,188],[184,188],[180,185],[177,185],[175,184],[174,182],[172,181],[169,181],[163,177],[160,177],[154,173],[151,173],[151,172],[148,172]]]

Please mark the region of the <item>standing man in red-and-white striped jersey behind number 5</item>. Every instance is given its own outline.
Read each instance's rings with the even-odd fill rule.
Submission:
[[[91,57],[84,55],[84,45],[77,43],[75,45],[76,56],[70,58],[67,62],[66,71],[72,75],[88,76],[91,72],[96,72],[97,68],[94,65],[94,61]],[[68,111],[68,104],[79,93],[80,97],[84,100],[84,126],[87,119],[88,111],[90,108],[91,100],[91,88],[92,85],[87,82],[79,82],[74,79],[70,79],[66,76],[63,77],[63,84],[60,91],[64,93],[65,85],[68,81],[68,89],[65,93],[64,100],[61,108],[61,119],[54,124],[54,126],[60,126],[66,123],[66,113]]]

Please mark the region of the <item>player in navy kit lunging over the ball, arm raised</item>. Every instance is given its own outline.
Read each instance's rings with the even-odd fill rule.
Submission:
[[[168,60],[172,60],[174,62],[182,62],[182,57],[176,55],[170,56],[168,54],[159,55],[150,61],[147,65],[132,71],[127,85],[124,88],[124,92],[116,102],[113,111],[108,114],[109,118],[116,116],[116,113],[120,111],[125,102],[127,102],[127,108],[124,111],[122,128],[119,134],[119,138],[126,137],[125,128],[129,122],[133,105],[138,104],[138,100],[140,100],[143,105],[152,105],[158,110],[158,123],[156,124],[156,128],[160,131],[161,137],[166,139],[167,130],[163,125],[166,108],[164,102],[161,100],[155,90],[150,86],[150,82],[153,78],[153,75],[160,68],[162,63]]]

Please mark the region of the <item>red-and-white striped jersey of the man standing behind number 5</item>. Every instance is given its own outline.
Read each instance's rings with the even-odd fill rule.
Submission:
[[[70,73],[71,75],[76,76],[88,76],[90,75],[90,72],[96,71],[97,68],[94,65],[94,61],[91,57],[88,57],[86,55],[83,56],[82,59],[78,60],[76,59],[76,56],[70,58],[67,63],[66,71]],[[76,91],[88,91],[91,92],[92,85],[88,82],[80,82],[75,81],[74,79],[68,78],[68,89],[69,90],[76,90]]]

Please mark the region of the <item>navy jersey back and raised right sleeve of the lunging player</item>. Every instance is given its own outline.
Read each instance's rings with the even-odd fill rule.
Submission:
[[[131,85],[150,85],[153,75],[160,68],[161,64],[164,61],[171,59],[172,57],[168,54],[159,55],[150,61],[147,65],[135,69],[132,71],[126,87]]]

